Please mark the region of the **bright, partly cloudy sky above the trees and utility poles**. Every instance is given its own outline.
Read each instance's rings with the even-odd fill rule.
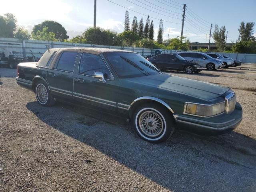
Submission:
[[[111,2],[110,2],[111,1]],[[116,5],[119,4],[119,5]],[[181,34],[182,6],[186,4],[183,36],[191,42],[209,41],[210,24],[226,26],[227,42],[236,42],[240,22],[256,23],[256,0],[97,0],[96,26],[122,32],[124,14],[128,8],[130,23],[134,16],[144,24],[149,15],[154,22],[156,39],[160,19],[164,24],[164,39]],[[31,32],[35,24],[54,20],[62,24],[70,38],[93,26],[94,0],[12,0],[2,1],[0,15],[10,12],[18,25]],[[256,26],[254,27],[256,36]],[[211,38],[211,42],[214,42]]]

